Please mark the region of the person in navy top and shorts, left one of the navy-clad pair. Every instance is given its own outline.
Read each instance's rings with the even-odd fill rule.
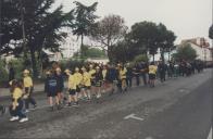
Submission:
[[[57,96],[57,85],[58,85],[57,77],[54,76],[52,71],[48,71],[46,75],[47,75],[47,78],[45,83],[45,92],[47,92],[50,111],[54,110],[53,98],[55,99],[55,104],[57,104],[58,110],[60,110],[61,106],[59,104],[59,98]]]

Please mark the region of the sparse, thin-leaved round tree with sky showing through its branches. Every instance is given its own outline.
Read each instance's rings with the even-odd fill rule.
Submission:
[[[113,49],[116,42],[122,40],[126,34],[124,18],[120,15],[108,15],[99,21],[91,31],[91,38],[101,43],[102,48],[108,51],[109,60],[113,61]]]

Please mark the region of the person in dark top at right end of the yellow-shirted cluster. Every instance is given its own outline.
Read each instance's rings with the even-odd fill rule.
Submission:
[[[95,73],[95,93],[96,93],[97,99],[101,97],[102,80],[103,80],[102,73],[100,71],[100,67],[97,66],[96,73]]]

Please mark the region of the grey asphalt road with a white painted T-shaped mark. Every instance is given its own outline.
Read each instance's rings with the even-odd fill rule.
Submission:
[[[47,112],[45,94],[29,122],[0,117],[0,138],[208,139],[212,125],[213,70],[136,87],[127,93]],[[7,101],[1,101],[5,103]]]

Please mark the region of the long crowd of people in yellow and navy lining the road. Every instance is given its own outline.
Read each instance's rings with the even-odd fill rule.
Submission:
[[[62,71],[60,65],[54,63],[51,70],[46,71],[45,92],[48,97],[49,111],[54,111],[63,106],[78,106],[78,100],[91,101],[93,98],[101,98],[103,93],[110,96],[115,92],[125,93],[133,87],[133,80],[136,86],[140,86],[142,79],[145,86],[153,88],[156,78],[163,83],[166,77],[190,76],[196,71],[202,72],[203,67],[202,62],[196,61],[168,62],[167,64],[159,61],[137,62],[135,65],[88,63],[82,67]],[[66,87],[65,78],[67,78]],[[10,81],[10,91],[12,97],[9,109],[12,116],[10,121],[27,122],[26,113],[29,112],[29,104],[33,109],[37,108],[37,102],[32,96],[34,84],[28,70],[24,70],[22,80]],[[64,91],[68,93],[67,98]],[[0,111],[4,113],[5,108],[0,105]]]

